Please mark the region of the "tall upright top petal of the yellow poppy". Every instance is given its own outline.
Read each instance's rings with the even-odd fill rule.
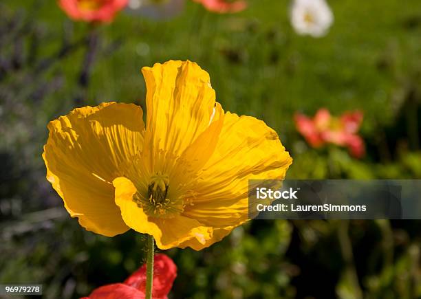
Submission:
[[[145,146],[151,153],[180,156],[213,118],[219,119],[209,75],[196,63],[173,60],[143,67],[142,73],[147,85]]]

